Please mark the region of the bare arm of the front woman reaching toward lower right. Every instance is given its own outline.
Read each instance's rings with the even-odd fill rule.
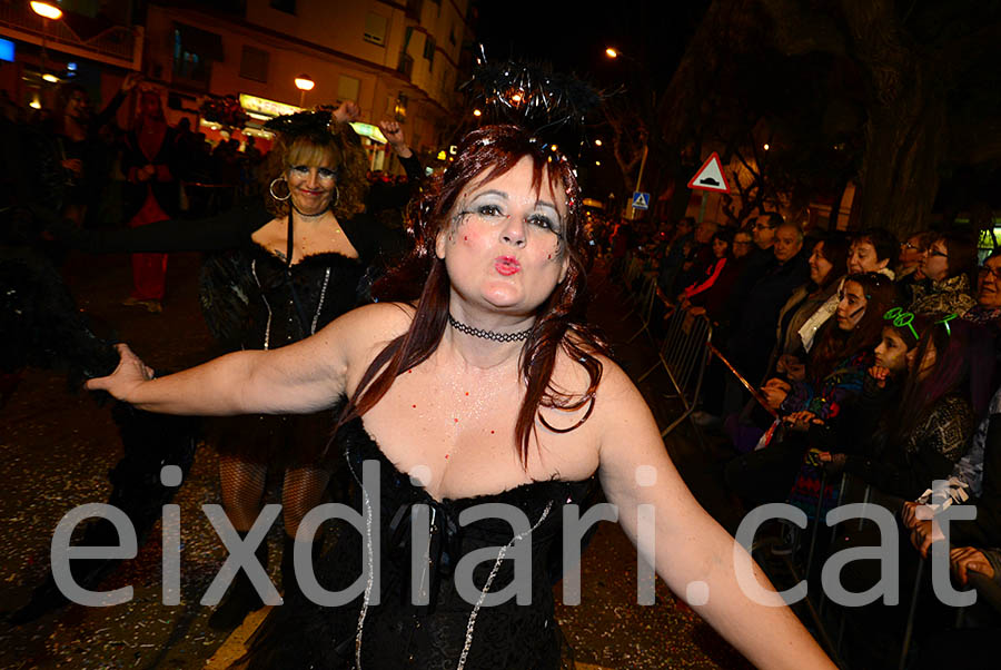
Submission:
[[[652,531],[657,574],[756,667],[833,669],[757,565],[692,496],[636,387],[617,367],[605,367],[597,401],[604,406],[596,416],[601,481],[633,543]],[[653,522],[640,520],[640,505],[652,505]],[[753,566],[756,584],[750,587],[766,590],[769,605],[745,594],[749,584],[736,577],[736,555]]]

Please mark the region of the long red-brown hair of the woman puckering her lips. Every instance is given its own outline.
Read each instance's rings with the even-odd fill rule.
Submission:
[[[376,285],[373,294],[379,299],[416,299],[416,313],[407,332],[390,342],[368,366],[338,426],[364,415],[386,394],[397,375],[426,361],[438,347],[448,323],[450,283],[445,263],[435,254],[437,235],[450,225],[449,215],[467,185],[494,179],[525,157],[532,159],[536,189],[547,178],[554,193],[566,194],[567,215],[561,229],[559,249],[567,269],[564,279],[538,307],[518,361],[526,387],[515,424],[522,464],[528,463],[529,440],[539,407],[574,411],[587,406],[584,418],[568,428],[554,428],[539,416],[546,427],[557,432],[568,432],[591,415],[602,378],[602,363],[595,354],[608,355],[608,349],[583,324],[589,247],[582,225],[581,190],[574,169],[564,156],[549,150],[526,130],[517,126],[487,126],[468,134],[459,144],[455,162],[410,203],[408,228],[415,246],[408,258]],[[419,294],[415,287],[420,288]],[[565,394],[551,385],[561,349],[587,371],[589,384],[585,393]]]

